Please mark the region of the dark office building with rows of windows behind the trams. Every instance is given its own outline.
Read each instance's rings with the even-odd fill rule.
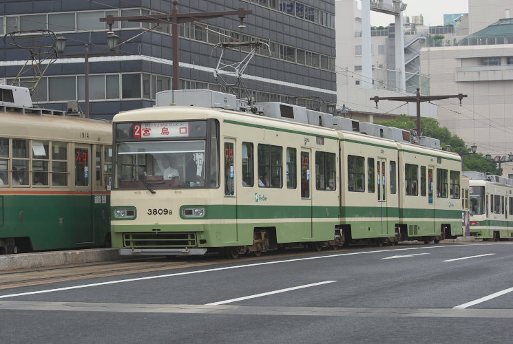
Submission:
[[[32,98],[36,105],[59,110],[67,109],[67,101],[78,100],[84,110],[84,59],[65,54],[84,52],[86,43],[90,52],[107,51],[108,27],[99,21],[102,17],[151,17],[171,8],[171,0],[5,0],[0,5],[0,34],[51,30],[64,36],[64,56],[46,70]],[[270,48],[270,54],[261,48],[244,72],[244,83],[256,101],[334,111],[335,0],[182,0],[178,8],[182,13],[253,10],[244,19],[246,28],[238,28],[237,16],[180,25],[182,89],[218,90],[213,71],[221,50],[214,45],[256,40]],[[120,36],[118,52],[89,58],[91,117],[109,119],[119,111],[151,107],[156,92],[171,89],[169,25],[123,21],[113,29]],[[30,52],[3,41],[0,47],[0,82],[10,85]],[[244,56],[244,50],[227,51],[223,62],[235,63]]]

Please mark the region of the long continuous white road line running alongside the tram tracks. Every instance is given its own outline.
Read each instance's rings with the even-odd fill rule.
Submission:
[[[501,243],[501,244],[480,244],[480,245],[513,245],[513,243]],[[159,279],[164,277],[175,277],[182,275],[193,275],[199,274],[202,272],[212,272],[212,271],[221,271],[221,270],[230,270],[230,269],[238,269],[238,268],[251,268],[253,266],[261,266],[261,265],[269,265],[269,264],[281,264],[281,263],[291,263],[294,261],[304,261],[311,259],[324,259],[324,258],[333,258],[333,257],[343,257],[343,256],[351,256],[351,255],[367,255],[369,253],[383,253],[387,251],[404,251],[404,250],[431,250],[435,248],[455,248],[461,246],[475,246],[475,244],[463,244],[458,246],[430,246],[430,247],[410,247],[410,248],[390,248],[390,250],[376,250],[376,251],[364,251],[364,252],[350,252],[350,253],[339,253],[337,255],[326,255],[326,256],[316,256],[316,257],[307,257],[307,258],[296,258],[296,259],[286,259],[280,261],[266,261],[264,263],[255,263],[255,264],[244,264],[238,266],[226,266],[224,268],[213,268],[213,269],[205,269],[205,270],[196,270],[196,271],[188,271],[188,272],[177,272],[175,274],[168,275],[157,275],[157,276],[149,276],[149,277],[138,277],[135,279],[120,279],[118,281],[108,281],[108,282],[100,282],[100,283],[91,283],[91,284],[83,284],[81,286],[72,286],[65,288],[55,288],[55,289],[47,289],[47,290],[36,290],[34,292],[19,292],[17,294],[7,294],[0,295],[0,299],[7,299],[8,297],[21,297],[25,295],[33,295],[33,294],[43,294],[45,292],[60,292],[63,290],[72,290],[72,289],[80,289],[80,288],[89,288],[96,286],[106,286],[108,284],[115,283],[125,283],[125,282],[133,282],[133,281],[144,281],[145,279]]]

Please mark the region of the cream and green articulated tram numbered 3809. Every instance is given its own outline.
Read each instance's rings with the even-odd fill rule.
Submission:
[[[459,155],[294,122],[299,109],[277,104],[287,120],[259,115],[264,103],[114,116],[112,247],[235,258],[463,235]]]

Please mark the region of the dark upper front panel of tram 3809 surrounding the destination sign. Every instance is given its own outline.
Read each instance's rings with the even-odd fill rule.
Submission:
[[[205,138],[206,136],[206,120],[116,123],[116,139],[118,140]]]

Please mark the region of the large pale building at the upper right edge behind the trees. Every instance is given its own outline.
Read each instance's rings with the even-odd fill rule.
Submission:
[[[421,73],[429,76],[432,90],[468,95],[462,105],[439,102],[440,125],[493,157],[513,151],[512,7],[512,1],[469,0],[470,35],[421,51]],[[503,164],[503,175],[511,174],[512,166]]]

